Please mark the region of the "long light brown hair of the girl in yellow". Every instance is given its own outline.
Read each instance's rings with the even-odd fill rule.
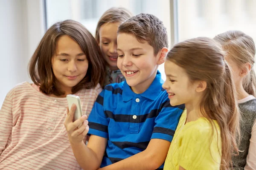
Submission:
[[[231,155],[234,151],[238,153],[236,136],[239,134],[239,110],[231,71],[224,61],[224,54],[221,45],[207,37],[177,43],[167,54],[168,60],[186,70],[192,82],[207,82],[200,109],[212,128],[213,119],[220,126],[221,169],[232,165]]]

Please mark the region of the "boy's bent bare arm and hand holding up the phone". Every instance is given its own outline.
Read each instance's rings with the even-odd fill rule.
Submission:
[[[92,135],[86,146],[83,139],[89,131],[87,116],[83,115],[80,119],[72,122],[75,110],[76,105],[73,105],[70,111],[67,109],[67,118],[64,122],[74,156],[83,169],[96,170],[101,164],[107,139]],[[81,127],[78,128],[79,125]]]

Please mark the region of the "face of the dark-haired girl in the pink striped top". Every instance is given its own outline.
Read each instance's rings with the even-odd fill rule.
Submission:
[[[67,35],[56,42],[56,55],[52,57],[52,71],[58,88],[70,93],[86,75],[88,60],[78,43]]]

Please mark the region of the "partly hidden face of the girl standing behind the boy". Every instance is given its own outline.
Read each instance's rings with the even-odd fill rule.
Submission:
[[[116,38],[120,23],[105,23],[99,29],[99,47],[111,70],[117,70]]]

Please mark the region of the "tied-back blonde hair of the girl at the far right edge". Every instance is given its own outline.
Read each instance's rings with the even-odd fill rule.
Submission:
[[[242,31],[227,31],[218,34],[214,40],[221,43],[222,48],[227,51],[227,55],[238,66],[250,63],[251,70],[243,79],[243,88],[248,94],[256,97],[256,74],[253,70],[255,44],[252,37]]]

